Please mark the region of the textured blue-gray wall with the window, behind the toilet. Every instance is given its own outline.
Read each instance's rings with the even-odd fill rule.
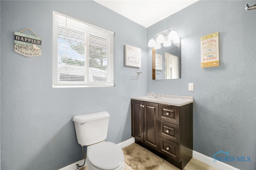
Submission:
[[[54,10],[116,33],[115,87],[52,88]],[[14,31],[26,28],[42,37],[42,56],[14,52]],[[142,49],[140,69],[124,67],[125,44]],[[146,28],[94,1],[1,0],[2,170],[54,170],[81,160],[75,115],[108,111],[106,140],[130,138],[130,98],[147,92],[146,45]]]

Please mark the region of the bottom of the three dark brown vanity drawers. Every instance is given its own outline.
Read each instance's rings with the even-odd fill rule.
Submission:
[[[162,154],[180,162],[180,144],[159,136],[159,150]]]

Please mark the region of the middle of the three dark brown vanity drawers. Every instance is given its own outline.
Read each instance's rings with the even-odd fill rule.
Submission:
[[[158,134],[163,138],[180,143],[180,126],[172,123],[159,121]]]

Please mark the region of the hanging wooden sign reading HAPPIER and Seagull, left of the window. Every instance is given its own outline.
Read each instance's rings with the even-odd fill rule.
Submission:
[[[26,30],[30,30],[27,28]],[[41,55],[42,38],[20,32],[14,32],[14,51],[26,57],[35,57]]]

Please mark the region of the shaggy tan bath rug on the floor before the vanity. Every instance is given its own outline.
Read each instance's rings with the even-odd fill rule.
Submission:
[[[156,170],[164,162],[162,158],[136,143],[122,150],[124,161],[134,170]]]

